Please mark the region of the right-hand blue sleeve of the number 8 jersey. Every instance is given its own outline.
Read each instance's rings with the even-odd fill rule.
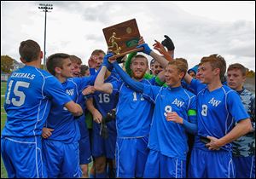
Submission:
[[[236,91],[230,91],[227,96],[227,107],[232,117],[239,122],[242,119],[250,118],[243,104],[241,98]]]

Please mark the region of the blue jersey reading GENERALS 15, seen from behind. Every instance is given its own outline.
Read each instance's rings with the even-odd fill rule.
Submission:
[[[49,72],[25,66],[7,83],[4,109],[7,120],[2,136],[41,136],[51,101],[63,106],[71,101],[61,83]]]

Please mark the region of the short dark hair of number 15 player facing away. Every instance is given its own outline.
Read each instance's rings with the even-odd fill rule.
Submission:
[[[33,40],[26,40],[20,43],[20,57],[26,62],[37,61],[40,56],[41,48],[39,44]]]

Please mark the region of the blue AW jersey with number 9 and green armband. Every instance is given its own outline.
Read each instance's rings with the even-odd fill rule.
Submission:
[[[166,116],[167,113],[176,112],[188,122],[196,118],[195,95],[181,86],[160,88],[152,85],[144,85],[143,94],[155,103],[148,147],[168,157],[185,160],[189,150],[186,130],[183,124],[167,121]]]

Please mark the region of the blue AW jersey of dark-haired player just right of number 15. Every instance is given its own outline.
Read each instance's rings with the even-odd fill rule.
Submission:
[[[91,78],[68,78],[66,82],[62,83],[73,101],[78,101],[79,93],[91,84]],[[49,140],[62,141],[66,143],[79,141],[80,131],[78,120],[73,118],[73,114],[67,111],[63,105],[53,104],[49,112],[45,127],[54,129]]]

